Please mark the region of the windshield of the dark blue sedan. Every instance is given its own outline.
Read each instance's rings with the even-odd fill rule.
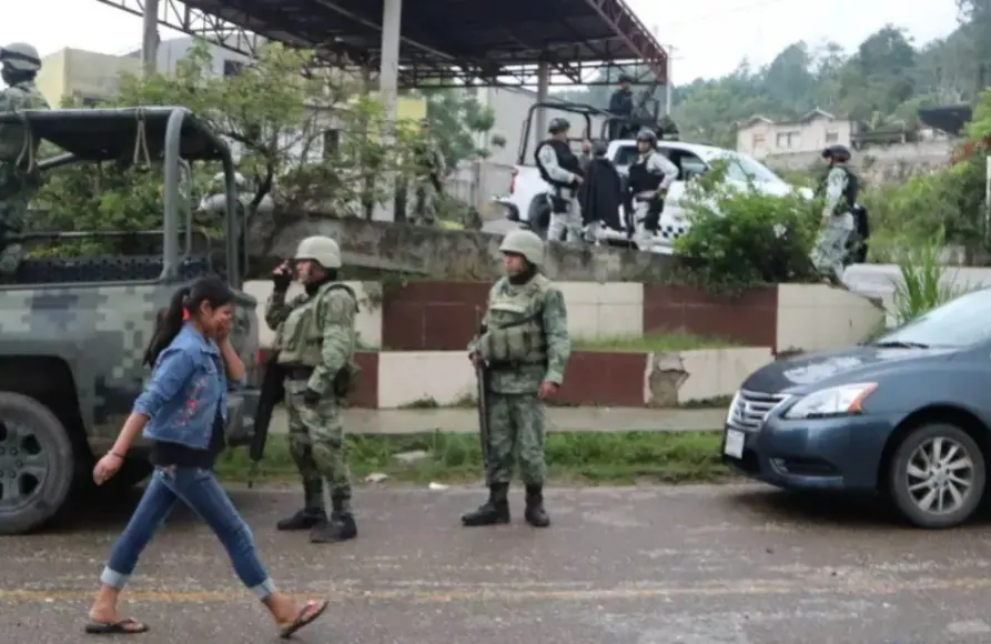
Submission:
[[[963,348],[991,340],[991,289],[973,291],[886,333],[872,345]]]

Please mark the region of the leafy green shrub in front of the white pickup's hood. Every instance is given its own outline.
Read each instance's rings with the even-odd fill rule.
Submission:
[[[687,276],[710,291],[816,281],[809,260],[821,205],[797,191],[786,197],[739,190],[725,167],[689,182],[682,208],[690,227],[675,242]]]

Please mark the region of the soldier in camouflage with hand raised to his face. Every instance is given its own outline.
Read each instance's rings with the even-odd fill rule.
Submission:
[[[292,280],[287,263],[273,273],[275,285],[265,322],[276,332],[277,362],[285,370],[285,405],[293,461],[303,477],[305,503],[279,530],[310,530],[313,543],[357,536],[351,511],[351,473],[344,454],[341,400],[356,375],[353,363],[357,299],[335,282],[341,249],[326,237],[300,242],[294,258],[305,292],[286,303]],[[327,519],[323,480],[331,487]]]

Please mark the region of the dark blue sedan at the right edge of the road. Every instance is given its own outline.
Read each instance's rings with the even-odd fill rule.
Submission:
[[[756,371],[730,403],[722,453],[779,487],[880,492],[920,527],[967,521],[991,456],[991,290]]]

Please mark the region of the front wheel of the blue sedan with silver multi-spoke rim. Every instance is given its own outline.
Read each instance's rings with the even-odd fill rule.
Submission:
[[[932,423],[907,435],[889,472],[891,497],[918,527],[953,527],[970,519],[984,495],[984,455],[958,426]]]

